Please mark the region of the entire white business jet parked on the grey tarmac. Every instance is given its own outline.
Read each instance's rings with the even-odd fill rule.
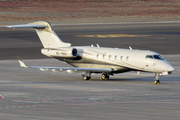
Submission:
[[[44,48],[41,53],[66,62],[73,67],[40,67],[26,66],[20,58],[21,67],[37,68],[42,71],[67,71],[68,73],[84,73],[83,80],[91,80],[92,73],[101,73],[101,80],[110,75],[129,71],[155,73],[153,84],[160,84],[160,75],[169,75],[174,68],[160,54],[149,50],[107,48],[97,46],[71,46],[63,42],[53,31],[48,21],[36,21],[23,25],[7,26],[9,28],[35,28]]]

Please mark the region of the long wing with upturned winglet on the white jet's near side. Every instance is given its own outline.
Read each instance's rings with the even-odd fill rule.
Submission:
[[[70,68],[70,67],[41,67],[41,66],[26,66],[24,62],[18,57],[18,61],[21,67],[24,68],[37,68],[41,71],[51,70],[53,72],[67,71],[68,73],[78,73],[78,72],[111,72],[112,69],[98,69],[98,68]]]

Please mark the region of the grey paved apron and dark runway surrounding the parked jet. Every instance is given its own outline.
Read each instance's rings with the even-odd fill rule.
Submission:
[[[81,74],[42,72],[27,65],[68,66],[40,54],[33,29],[0,28],[0,118],[2,120],[179,120],[180,26],[168,24],[106,24],[54,26],[64,42],[73,45],[149,49],[163,54],[175,71],[160,77],[129,72],[108,81],[83,81]],[[44,59],[45,58],[45,59]]]

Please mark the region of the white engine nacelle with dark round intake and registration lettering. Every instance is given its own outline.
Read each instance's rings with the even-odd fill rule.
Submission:
[[[43,48],[41,53],[49,57],[76,58],[78,50],[73,47]]]

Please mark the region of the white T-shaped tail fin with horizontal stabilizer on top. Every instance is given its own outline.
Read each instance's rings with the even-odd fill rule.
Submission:
[[[63,42],[57,34],[53,31],[51,24],[48,21],[36,21],[23,25],[12,25],[7,26],[9,28],[35,28],[39,39],[44,48],[59,48],[59,47],[70,47],[70,43]]]

